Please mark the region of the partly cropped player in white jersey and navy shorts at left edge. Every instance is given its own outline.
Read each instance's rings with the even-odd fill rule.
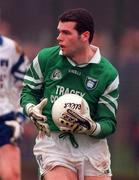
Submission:
[[[19,45],[0,35],[0,179],[20,180],[21,162],[17,140],[22,135],[25,116],[19,93],[28,58]]]

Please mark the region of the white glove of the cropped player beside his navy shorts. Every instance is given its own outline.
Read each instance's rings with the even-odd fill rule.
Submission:
[[[13,136],[10,141],[11,143],[15,143],[17,139],[21,138],[23,127],[17,120],[5,121],[5,124],[13,129]]]

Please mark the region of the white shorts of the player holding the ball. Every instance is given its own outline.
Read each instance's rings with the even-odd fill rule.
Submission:
[[[76,134],[79,147],[71,144],[69,137],[60,139],[57,132],[51,137],[36,138],[34,155],[41,175],[55,166],[64,166],[84,176],[111,176],[110,153],[106,139],[95,139],[83,134]]]

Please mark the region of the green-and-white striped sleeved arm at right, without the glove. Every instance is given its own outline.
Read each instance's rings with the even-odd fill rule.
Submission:
[[[119,98],[119,76],[107,86],[99,99],[97,113],[94,117],[100,124],[101,131],[96,138],[105,138],[116,130],[116,112],[118,109]]]

